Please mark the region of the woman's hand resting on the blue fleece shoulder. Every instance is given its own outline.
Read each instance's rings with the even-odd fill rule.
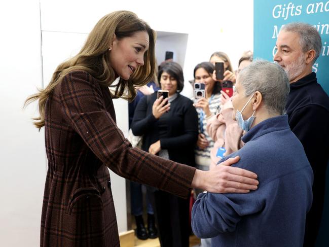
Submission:
[[[239,156],[227,159],[209,171],[196,170],[192,187],[213,193],[248,193],[256,190],[259,184],[257,174],[230,166],[239,159]]]

